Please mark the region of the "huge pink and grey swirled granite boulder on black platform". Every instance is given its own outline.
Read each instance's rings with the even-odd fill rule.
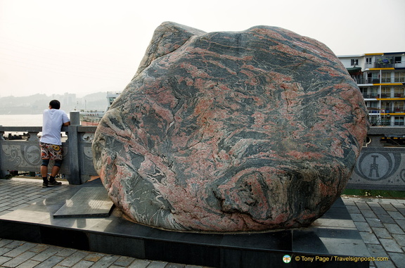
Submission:
[[[97,128],[94,165],[141,224],[289,229],[340,196],[367,130],[359,89],[324,44],[162,23]]]

